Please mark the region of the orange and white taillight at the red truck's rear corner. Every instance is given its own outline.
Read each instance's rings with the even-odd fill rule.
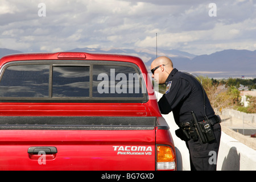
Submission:
[[[175,152],[170,146],[156,146],[156,170],[175,170]]]

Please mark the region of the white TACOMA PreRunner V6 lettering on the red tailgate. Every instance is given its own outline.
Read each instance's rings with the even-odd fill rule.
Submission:
[[[113,146],[117,155],[152,155],[150,146]]]

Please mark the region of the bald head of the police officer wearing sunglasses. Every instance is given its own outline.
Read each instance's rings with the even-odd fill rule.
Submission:
[[[174,69],[171,59],[169,59],[166,56],[156,58],[151,63],[151,69],[154,68],[157,69],[155,69],[152,78],[154,78],[155,81],[158,82],[158,84],[164,84],[164,82],[167,80],[167,77],[170,75],[172,69]]]

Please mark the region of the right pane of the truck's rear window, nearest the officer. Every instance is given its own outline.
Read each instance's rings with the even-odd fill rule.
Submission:
[[[144,90],[133,67],[93,65],[93,97],[138,98],[143,97]]]

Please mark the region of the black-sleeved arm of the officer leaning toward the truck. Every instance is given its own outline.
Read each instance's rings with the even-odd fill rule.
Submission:
[[[191,85],[182,78],[172,80],[170,91],[163,95],[158,101],[158,106],[162,114],[170,113],[180,104],[191,92]]]

